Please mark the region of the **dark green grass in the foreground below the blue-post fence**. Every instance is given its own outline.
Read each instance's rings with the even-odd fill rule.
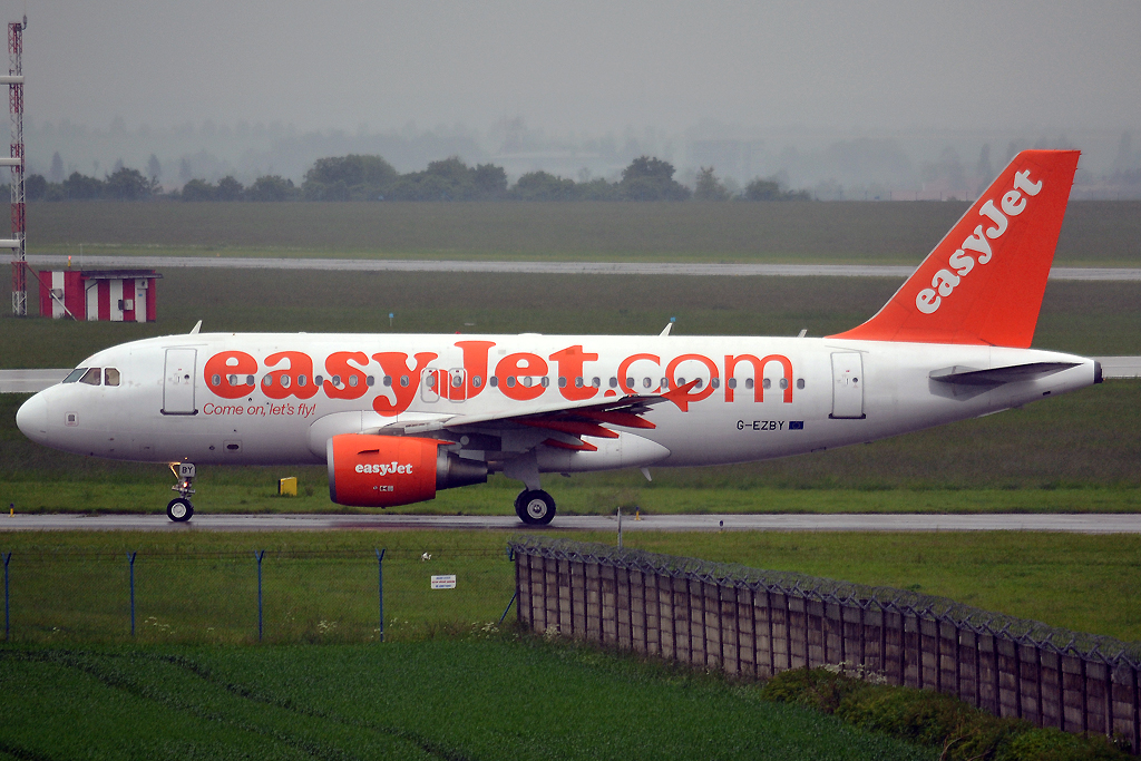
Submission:
[[[754,686],[527,638],[0,647],[0,758],[934,759]]]

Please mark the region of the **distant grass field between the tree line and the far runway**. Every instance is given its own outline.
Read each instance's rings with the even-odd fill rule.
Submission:
[[[33,203],[32,253],[919,264],[962,202]],[[1060,265],[1141,262],[1141,203],[1074,202]]]

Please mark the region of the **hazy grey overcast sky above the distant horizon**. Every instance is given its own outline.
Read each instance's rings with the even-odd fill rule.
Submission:
[[[1141,2],[0,0],[26,112],[372,131],[1136,129]]]

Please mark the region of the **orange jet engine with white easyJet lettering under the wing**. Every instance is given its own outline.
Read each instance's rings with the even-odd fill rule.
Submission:
[[[423,502],[436,491],[483,484],[487,464],[440,448],[434,438],[342,434],[329,439],[329,497],[338,504],[387,508]]]

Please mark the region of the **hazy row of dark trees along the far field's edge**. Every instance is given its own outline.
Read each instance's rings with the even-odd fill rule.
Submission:
[[[29,201],[808,201],[807,191],[785,191],[776,179],[756,178],[741,193],[726,187],[712,167],[702,167],[694,189],[674,179],[674,168],[654,156],[639,156],[616,181],[575,181],[545,171],[521,176],[515,185],[494,164],[469,167],[458,156],[434,161],[422,171],[402,175],[381,156],[349,154],[318,159],[300,185],[278,175],[243,186],[233,176],[218,183],[192,179],[163,192],[157,177],[118,168],[99,179],[80,172],[51,183],[42,175],[25,180]]]

